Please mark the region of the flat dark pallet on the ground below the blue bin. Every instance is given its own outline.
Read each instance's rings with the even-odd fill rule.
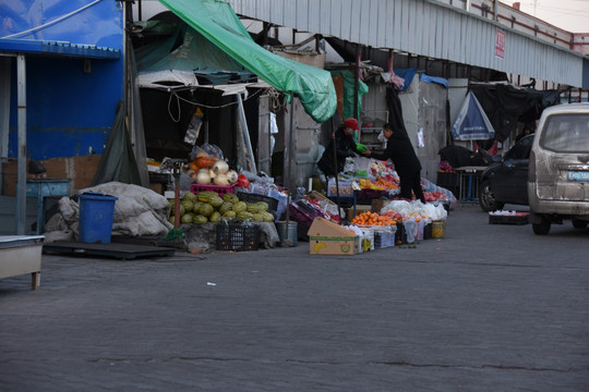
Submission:
[[[81,242],[62,242],[45,244],[43,253],[69,254],[74,256],[99,256],[122,260],[147,257],[167,257],[176,253],[172,248],[136,244],[85,244]]]

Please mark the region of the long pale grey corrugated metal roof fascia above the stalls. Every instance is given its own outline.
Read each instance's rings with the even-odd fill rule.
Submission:
[[[236,13],[374,48],[582,86],[584,57],[434,0],[227,0]],[[505,54],[495,56],[497,28]]]

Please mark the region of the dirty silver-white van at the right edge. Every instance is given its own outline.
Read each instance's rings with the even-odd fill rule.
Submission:
[[[536,234],[552,223],[589,223],[589,103],[558,105],[540,118],[528,167],[530,222]]]

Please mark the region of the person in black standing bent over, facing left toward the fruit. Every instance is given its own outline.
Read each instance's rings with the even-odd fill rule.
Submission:
[[[386,149],[383,154],[372,154],[370,149],[366,155],[374,159],[390,159],[395,164],[395,170],[400,180],[400,197],[411,200],[411,191],[416,197],[425,203],[423,191],[421,189],[421,163],[411,145],[409,136],[404,130],[393,130],[388,123],[383,125],[383,134],[387,139]]]

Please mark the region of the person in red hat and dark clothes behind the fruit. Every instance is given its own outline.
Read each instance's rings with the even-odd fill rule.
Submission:
[[[317,167],[325,175],[335,176],[337,173],[341,172],[344,170],[344,164],[346,163],[346,157],[350,155],[350,150],[356,154],[363,154],[358,149],[356,140],[353,139],[353,134],[357,130],[360,130],[358,121],[350,118],[346,119],[344,124],[332,135],[329,145],[325,148],[323,156],[317,162]],[[337,166],[334,155],[335,158],[337,158]]]

